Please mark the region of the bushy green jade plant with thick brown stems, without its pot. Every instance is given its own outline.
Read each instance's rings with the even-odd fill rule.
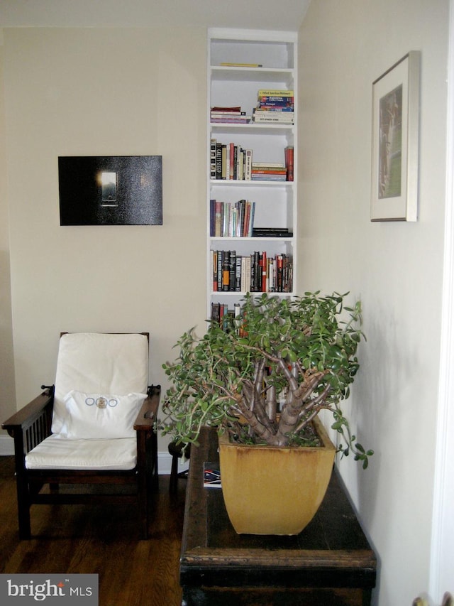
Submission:
[[[342,438],[338,450],[367,467],[372,450],[358,443],[340,407],[363,337],[360,302],[345,306],[347,294],[248,294],[236,317],[211,321],[202,337],[185,332],[179,357],[163,364],[171,386],[162,433],[197,443],[202,426],[213,426],[238,443],[313,444],[311,421],[326,410]]]

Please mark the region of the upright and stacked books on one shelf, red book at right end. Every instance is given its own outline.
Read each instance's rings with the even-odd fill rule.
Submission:
[[[294,148],[284,148],[283,162],[253,161],[253,150],[235,143],[210,141],[210,178],[213,180],[292,181]]]

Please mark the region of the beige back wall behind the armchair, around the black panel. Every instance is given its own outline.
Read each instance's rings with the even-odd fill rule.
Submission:
[[[14,28],[3,52],[17,407],[62,330],[149,331],[166,386],[177,337],[204,330],[206,31]],[[162,227],[60,227],[58,156],[141,154],[162,155]]]

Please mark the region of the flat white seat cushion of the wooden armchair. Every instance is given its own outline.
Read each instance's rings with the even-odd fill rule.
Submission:
[[[136,463],[135,438],[70,440],[54,434],[26,455],[27,469],[126,471]]]

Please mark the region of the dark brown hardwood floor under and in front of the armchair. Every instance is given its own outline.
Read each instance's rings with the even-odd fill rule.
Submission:
[[[135,508],[34,505],[31,541],[19,541],[13,458],[0,457],[0,573],[97,573],[99,606],[180,606],[179,550],[186,480],[160,476],[150,539]]]

